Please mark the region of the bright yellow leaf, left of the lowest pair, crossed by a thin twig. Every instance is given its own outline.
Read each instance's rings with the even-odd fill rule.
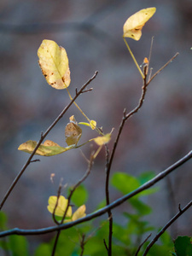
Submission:
[[[56,201],[57,201],[57,196],[55,195],[49,196],[49,201],[48,201],[49,206],[47,207],[47,209],[50,213],[54,212]],[[67,208],[67,203],[68,203],[68,200],[63,195],[60,195],[59,200],[57,202],[57,207],[55,209],[56,216],[62,217],[64,215],[64,212],[66,211],[66,208]],[[68,218],[72,217],[72,207],[68,207],[66,217]]]

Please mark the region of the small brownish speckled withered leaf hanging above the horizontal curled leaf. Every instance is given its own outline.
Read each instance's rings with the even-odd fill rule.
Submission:
[[[81,137],[82,130],[79,125],[77,125],[74,116],[71,116],[69,120],[70,123],[66,125],[65,129],[66,143],[68,146],[77,145]]]

